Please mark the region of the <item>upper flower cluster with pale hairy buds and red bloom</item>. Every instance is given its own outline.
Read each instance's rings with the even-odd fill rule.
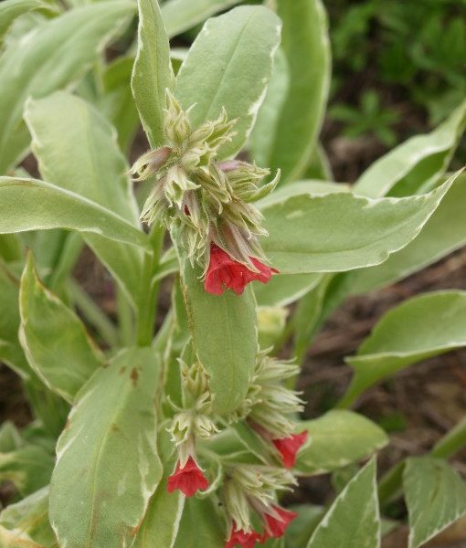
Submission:
[[[143,221],[164,225],[176,235],[191,265],[203,269],[206,290],[214,294],[225,289],[239,294],[249,281],[266,283],[276,272],[264,264],[259,237],[267,232],[251,202],[268,195],[279,174],[260,186],[268,169],[239,160],[217,161],[235,134],[235,123],[222,111],[216,121],[193,129],[189,110],[183,111],[167,91],[167,144],[143,154],[132,166],[135,181],[154,180]]]

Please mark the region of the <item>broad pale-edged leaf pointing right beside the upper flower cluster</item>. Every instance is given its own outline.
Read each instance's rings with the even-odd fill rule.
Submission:
[[[420,232],[454,176],[426,195],[369,200],[350,193],[297,195],[264,205],[261,239],[283,274],[336,272],[380,264]]]

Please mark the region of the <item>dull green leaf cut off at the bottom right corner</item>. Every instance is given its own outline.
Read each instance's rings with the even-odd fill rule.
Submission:
[[[403,484],[409,513],[408,548],[418,548],[466,513],[466,483],[440,458],[408,458]]]

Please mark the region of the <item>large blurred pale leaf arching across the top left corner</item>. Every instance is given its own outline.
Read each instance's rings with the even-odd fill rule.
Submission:
[[[131,2],[120,0],[79,7],[5,50],[0,58],[0,174],[26,151],[29,136],[21,122],[26,99],[45,97],[79,79],[133,10]]]

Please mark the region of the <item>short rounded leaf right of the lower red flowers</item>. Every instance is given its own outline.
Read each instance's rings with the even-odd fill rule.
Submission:
[[[298,430],[309,432],[309,441],[298,453],[296,469],[306,475],[323,474],[372,455],[387,445],[382,428],[365,416],[334,409],[300,422]]]

